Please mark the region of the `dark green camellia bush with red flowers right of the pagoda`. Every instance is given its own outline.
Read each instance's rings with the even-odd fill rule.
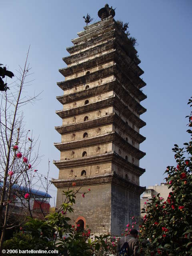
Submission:
[[[192,107],[192,98],[188,104]],[[192,112],[189,127],[192,127]],[[187,132],[192,136],[192,130]],[[154,196],[143,208],[145,216],[140,225],[140,240],[150,243],[141,248],[146,256],[192,255],[192,140],[172,148],[176,167],[167,166],[166,183],[172,189],[168,198]]]

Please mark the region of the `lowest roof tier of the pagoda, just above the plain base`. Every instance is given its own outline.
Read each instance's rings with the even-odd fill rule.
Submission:
[[[69,188],[72,187],[72,182],[74,180],[56,180],[52,179],[52,183],[56,186],[56,188]],[[91,186],[91,185],[101,185],[111,183],[114,185],[121,186],[127,190],[134,191],[134,193],[141,195],[145,190],[146,187],[138,186],[124,178],[118,176],[116,173],[114,174],[105,174],[99,175],[84,179],[76,179],[75,180],[77,187],[84,187],[84,186]]]

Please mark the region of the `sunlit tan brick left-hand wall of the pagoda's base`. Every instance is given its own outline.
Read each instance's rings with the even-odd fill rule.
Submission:
[[[90,192],[82,197],[83,192]],[[62,196],[62,190],[58,189],[57,206],[59,207],[64,201]],[[74,187],[74,191],[77,190]],[[82,216],[86,220],[86,225],[91,230],[94,230],[94,234],[104,234],[110,232],[111,222],[111,185],[100,184],[97,186],[84,186],[80,189],[76,195],[76,204],[73,206],[74,213],[69,215],[71,218],[71,224],[73,225],[79,216]]]

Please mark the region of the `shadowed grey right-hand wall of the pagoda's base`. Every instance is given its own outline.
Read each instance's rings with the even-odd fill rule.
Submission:
[[[112,184],[111,189],[111,234],[121,236],[132,216],[140,216],[140,196],[135,191]]]

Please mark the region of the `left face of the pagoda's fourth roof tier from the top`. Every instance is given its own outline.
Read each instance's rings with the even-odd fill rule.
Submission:
[[[103,42],[107,42],[108,40],[110,40],[114,37],[115,37],[115,31],[112,30],[103,35],[97,36],[96,38],[92,38],[88,41],[82,42],[82,44],[77,44],[74,46],[67,47],[66,50],[70,54],[73,54],[73,53],[83,50],[87,47],[92,47],[93,45],[102,44]]]

